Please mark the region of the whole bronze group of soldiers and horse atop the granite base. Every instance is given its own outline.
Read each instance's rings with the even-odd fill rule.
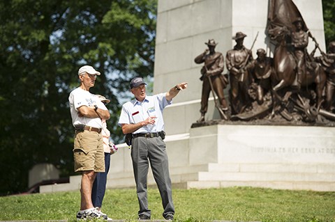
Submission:
[[[265,49],[257,49],[254,59],[252,47],[244,46],[245,33],[239,31],[232,37],[236,45],[225,55],[230,85],[228,101],[223,93],[228,86],[228,78],[223,75],[223,54],[215,51],[215,40],[205,43],[208,49],[194,60],[204,63],[198,123],[205,122],[211,92],[223,120],[281,116],[285,121],[316,122],[323,118],[335,121],[335,42],[330,42],[325,54],[301,15],[291,18],[289,25],[269,18],[267,34],[275,45],[272,58]],[[308,38],[315,42],[311,54],[306,49]],[[321,56],[315,57],[317,49]]]

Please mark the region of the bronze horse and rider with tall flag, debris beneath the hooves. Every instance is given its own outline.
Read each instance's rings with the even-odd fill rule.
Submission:
[[[277,109],[287,120],[299,119],[292,116],[299,111],[301,120],[315,121],[322,104],[326,74],[308,56],[308,37],[317,42],[293,1],[269,0],[267,33],[275,45],[271,116]]]

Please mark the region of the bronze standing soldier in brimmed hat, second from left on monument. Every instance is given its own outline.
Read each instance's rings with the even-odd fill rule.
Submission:
[[[230,77],[230,102],[232,114],[242,113],[250,104],[248,88],[251,77],[246,70],[249,61],[253,61],[251,50],[244,47],[243,42],[246,34],[237,32],[232,38],[237,42],[233,49],[227,51],[225,63]]]

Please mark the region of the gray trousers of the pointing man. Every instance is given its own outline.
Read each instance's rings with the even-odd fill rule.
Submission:
[[[140,204],[138,215],[145,214],[151,216],[147,198],[149,161],[159,193],[161,193],[164,209],[163,217],[168,214],[174,214],[168,154],[165,150],[165,142],[163,139],[161,137],[133,138],[131,159],[133,160],[137,198]]]

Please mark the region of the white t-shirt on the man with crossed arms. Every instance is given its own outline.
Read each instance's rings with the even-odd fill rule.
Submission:
[[[101,118],[88,118],[85,116],[80,117],[78,115],[78,108],[80,106],[94,106],[97,105],[99,109],[107,110],[106,106],[99,100],[99,98],[89,93],[87,90],[83,90],[78,87],[75,88],[68,97],[70,103],[70,113],[72,117],[72,124],[75,125],[86,125],[89,127],[102,128]]]

